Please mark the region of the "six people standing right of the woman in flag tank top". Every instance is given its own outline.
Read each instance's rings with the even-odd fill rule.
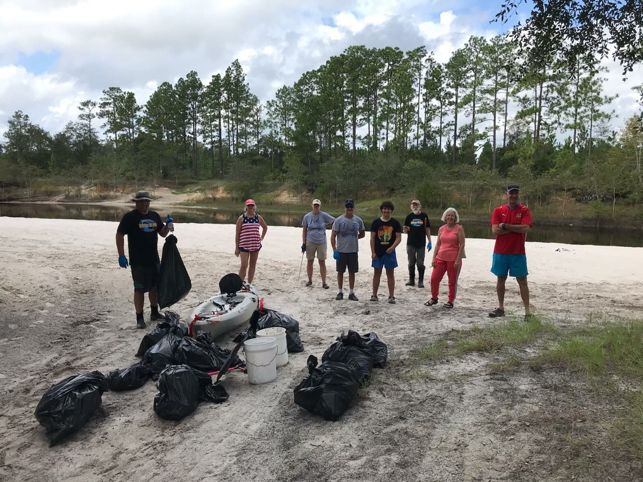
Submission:
[[[395,247],[402,242],[402,234],[406,234],[406,255],[408,258],[409,279],[406,286],[415,286],[415,270],[417,267],[417,287],[424,288],[424,258],[433,248],[431,242],[431,222],[426,213],[421,210],[421,202],[411,201],[411,213],[406,215],[404,224],[392,217],[395,206],[391,201],[380,204],[382,215],[373,220],[370,225],[370,252],[373,268],[373,287],[370,301],[379,301],[378,291],[382,271],[386,271],[388,287],[388,303],[395,303],[395,274],[398,266]],[[358,240],[365,237],[364,222],[354,214],[355,202],[347,199],[344,202],[344,214],[334,219],[328,213],[321,211],[321,201],[312,201],[312,211],[302,220],[302,254],[306,253],[307,275],[306,286],[312,285],[312,270],[314,258],[317,256],[320,264],[321,283],[328,289],[326,283],[326,235],[331,227],[331,247],[333,258],[336,260],[338,294],[335,299],[344,298],[344,274],[349,271],[349,299],[359,301],[355,294],[355,274],[359,271]],[[433,258],[431,258],[431,298],[424,303],[433,306],[438,303],[440,282],[444,274],[448,278],[448,298],[443,304],[453,308],[458,290],[458,278],[462,269],[462,259],[466,257],[464,228],[460,224],[460,216],[455,208],[447,208],[442,213],[442,222],[437,233]],[[505,316],[504,298],[505,281],[507,276],[513,276],[518,281],[521,298],[525,305],[525,319],[530,317],[529,287],[527,285],[527,256],[525,254],[525,235],[532,227],[529,208],[520,204],[520,186],[507,186],[507,204],[498,206],[493,211],[491,229],[496,236],[491,272],[496,275],[496,293],[498,308],[489,312],[490,317]],[[426,240],[426,253],[424,242]]]

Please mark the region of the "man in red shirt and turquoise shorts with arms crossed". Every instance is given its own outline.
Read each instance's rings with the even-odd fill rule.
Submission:
[[[498,308],[489,313],[494,318],[505,316],[505,281],[507,274],[514,276],[520,287],[520,297],[525,304],[525,320],[529,318],[529,287],[527,286],[527,256],[525,237],[532,227],[531,213],[520,204],[520,186],[507,186],[507,204],[498,206],[491,216],[491,231],[496,235],[491,272],[498,276],[496,293]]]

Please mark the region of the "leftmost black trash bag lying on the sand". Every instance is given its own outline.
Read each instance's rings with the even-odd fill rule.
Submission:
[[[52,447],[87,423],[102,402],[107,379],[100,371],[72,375],[51,386],[35,410]]]

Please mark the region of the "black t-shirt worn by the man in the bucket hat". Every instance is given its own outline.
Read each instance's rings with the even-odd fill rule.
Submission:
[[[158,232],[163,226],[165,224],[156,211],[143,214],[133,210],[125,213],[116,231],[127,235],[130,265],[152,266],[160,262]]]

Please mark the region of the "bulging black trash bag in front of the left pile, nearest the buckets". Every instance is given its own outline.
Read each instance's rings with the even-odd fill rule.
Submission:
[[[187,365],[170,365],[161,371],[154,396],[156,415],[166,420],[181,420],[194,412],[200,401],[221,403],[228,399],[222,386],[213,386],[207,373]]]

